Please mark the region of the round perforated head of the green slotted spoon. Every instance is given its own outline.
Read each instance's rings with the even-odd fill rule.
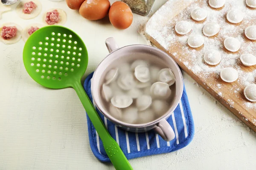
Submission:
[[[53,89],[73,87],[88,64],[84,42],[62,26],[45,26],[35,31],[23,49],[26,71],[39,84]]]

